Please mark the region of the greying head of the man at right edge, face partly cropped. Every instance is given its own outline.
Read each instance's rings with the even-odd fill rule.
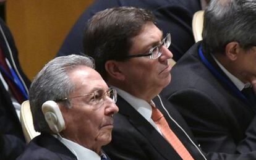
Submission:
[[[219,58],[243,82],[256,75],[256,1],[211,0],[203,24],[203,51]]]

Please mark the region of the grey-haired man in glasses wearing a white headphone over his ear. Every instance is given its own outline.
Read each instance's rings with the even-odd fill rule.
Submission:
[[[111,141],[116,90],[93,67],[88,57],[62,56],[36,75],[29,99],[41,135],[19,159],[108,159],[101,146]]]

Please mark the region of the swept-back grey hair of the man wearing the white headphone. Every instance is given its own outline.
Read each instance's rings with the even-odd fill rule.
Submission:
[[[41,106],[48,100],[56,101],[66,98],[69,93],[74,91],[74,84],[70,82],[69,72],[80,65],[94,69],[92,58],[72,54],[56,57],[49,61],[36,75],[29,90],[30,107],[36,131],[51,133],[41,111]],[[69,101],[64,101],[63,104],[70,107]]]

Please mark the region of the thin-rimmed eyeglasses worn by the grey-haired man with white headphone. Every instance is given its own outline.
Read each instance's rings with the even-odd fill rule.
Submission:
[[[101,104],[105,100],[106,96],[111,98],[114,103],[116,103],[116,101],[117,101],[117,92],[113,88],[108,88],[108,90],[106,90],[106,91],[95,90],[95,91],[93,91],[93,93],[88,93],[88,94],[79,95],[79,96],[73,96],[73,97],[69,97],[69,98],[62,98],[57,101],[64,101],[64,100],[79,98],[79,97],[83,97],[83,96],[91,96],[90,98],[88,98],[87,103],[92,104],[92,105]]]

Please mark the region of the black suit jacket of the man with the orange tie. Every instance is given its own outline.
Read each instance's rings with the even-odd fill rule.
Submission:
[[[193,139],[186,122],[184,122],[180,114],[169,105],[168,101],[162,100],[166,109],[169,109],[169,114]],[[160,99],[156,97],[153,101],[164,114],[169,126],[186,146],[190,154],[195,159],[203,159],[186,135],[168,117],[161,106]],[[134,107],[130,106],[127,101],[119,96],[116,104],[119,107],[119,112],[114,115],[112,141],[109,145],[103,147],[111,159],[181,159],[168,141],[139,112],[135,111]]]

